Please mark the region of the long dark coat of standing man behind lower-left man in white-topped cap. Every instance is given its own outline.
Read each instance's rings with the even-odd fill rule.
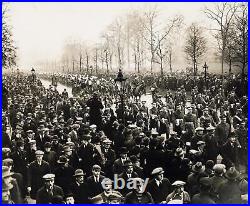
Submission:
[[[37,190],[43,186],[42,177],[48,173],[50,173],[50,166],[48,162],[42,161],[41,165],[38,165],[37,161],[30,163],[28,168],[28,186],[31,187],[31,198],[34,198]]]

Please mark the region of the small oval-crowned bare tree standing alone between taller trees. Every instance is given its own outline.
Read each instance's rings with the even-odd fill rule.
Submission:
[[[192,23],[187,29],[187,38],[185,45],[185,53],[187,59],[192,62],[194,75],[197,74],[197,65],[200,58],[206,52],[206,40],[203,36],[202,27],[196,23]]]

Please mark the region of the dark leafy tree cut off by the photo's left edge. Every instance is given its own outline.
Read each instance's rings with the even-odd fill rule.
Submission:
[[[16,66],[17,47],[13,41],[11,26],[8,22],[8,8],[4,4],[2,9],[2,67]]]

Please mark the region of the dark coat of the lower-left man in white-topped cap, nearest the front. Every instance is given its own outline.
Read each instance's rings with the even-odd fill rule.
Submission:
[[[53,192],[53,196],[60,195],[60,196],[64,197],[63,190],[59,186],[54,185],[53,189],[52,189],[52,192]],[[37,191],[36,203],[37,204],[49,204],[49,203],[52,203],[53,196],[51,196],[46,191],[45,187],[42,187]]]

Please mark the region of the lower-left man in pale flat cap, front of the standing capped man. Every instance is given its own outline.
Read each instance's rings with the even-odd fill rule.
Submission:
[[[42,186],[36,194],[37,204],[51,204],[53,197],[61,196],[64,197],[64,193],[61,187],[54,184],[55,175],[45,174],[43,175],[44,186]]]

